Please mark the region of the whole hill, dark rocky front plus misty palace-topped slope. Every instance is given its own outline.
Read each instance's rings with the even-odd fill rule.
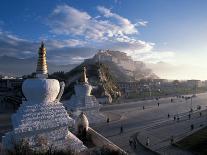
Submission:
[[[70,72],[56,72],[50,77],[65,81],[64,99],[74,93],[74,85],[81,78],[83,66],[87,69],[92,94],[97,98],[109,96],[115,100],[120,95],[117,82],[158,78],[143,62],[133,61],[126,53],[119,51],[99,51],[93,58],[85,60]]]

